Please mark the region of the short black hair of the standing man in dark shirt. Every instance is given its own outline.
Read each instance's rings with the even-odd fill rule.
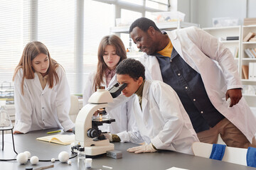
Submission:
[[[153,27],[156,31],[161,32],[161,30],[159,30],[159,28],[156,26],[156,23],[154,23],[154,21],[151,21],[149,18],[142,17],[135,20],[132,23],[132,25],[129,28],[129,33],[131,33],[135,27],[139,27],[141,30],[146,32],[146,30],[148,30],[150,26]]]

